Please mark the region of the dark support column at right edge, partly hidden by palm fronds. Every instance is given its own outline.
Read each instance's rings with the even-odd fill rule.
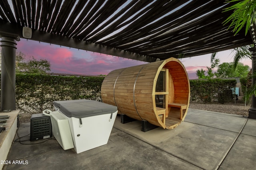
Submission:
[[[250,48],[252,52],[252,73],[256,71],[256,48]],[[252,86],[255,85],[256,78],[252,77]],[[256,119],[256,97],[252,95],[252,107],[249,109],[250,119]]]

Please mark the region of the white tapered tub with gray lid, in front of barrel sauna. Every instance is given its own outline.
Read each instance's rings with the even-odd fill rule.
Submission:
[[[74,149],[84,152],[108,143],[117,107],[94,100],[54,101],[54,107],[67,117]]]

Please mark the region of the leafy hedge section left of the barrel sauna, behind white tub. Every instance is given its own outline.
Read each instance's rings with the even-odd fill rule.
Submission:
[[[88,99],[101,101],[104,77],[16,74],[16,109],[21,113],[42,113],[53,109],[53,101]]]

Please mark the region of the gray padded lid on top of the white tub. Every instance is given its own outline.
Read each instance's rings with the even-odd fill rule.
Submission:
[[[95,100],[64,100],[54,101],[53,104],[67,117],[76,118],[104,115],[117,111],[116,106]]]

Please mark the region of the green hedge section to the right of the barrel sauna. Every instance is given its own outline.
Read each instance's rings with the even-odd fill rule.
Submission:
[[[190,80],[190,101],[214,100],[224,104],[232,99],[235,87],[235,79]]]

